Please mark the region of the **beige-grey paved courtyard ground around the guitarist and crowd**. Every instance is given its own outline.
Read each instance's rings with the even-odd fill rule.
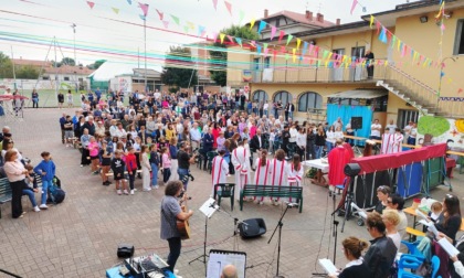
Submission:
[[[29,201],[23,199],[28,213],[21,220],[11,218],[10,203],[3,204],[0,220],[0,268],[22,277],[104,277],[105,269],[118,264],[116,247],[130,243],[136,255],[168,254],[168,244],[159,238],[160,201],[164,186],[157,191],[141,192],[141,180],[136,181],[139,190],[134,196],[119,196],[113,186],[103,186],[101,179],[80,167],[80,152],[61,143],[59,118],[73,109],[43,108],[27,109],[23,120],[0,118],[0,126],[12,128],[15,147],[33,163],[40,161],[40,153],[48,150],[57,165],[57,175],[66,191],[62,204],[40,213],[33,212]],[[189,207],[194,211],[190,221],[192,238],[182,244],[182,254],[177,268],[182,277],[204,277],[201,261],[190,260],[203,254],[205,218],[198,209],[211,193],[210,174],[192,168],[194,182],[189,184],[192,200]],[[454,192],[462,195],[464,175],[457,171],[452,180]],[[233,181],[233,177],[230,178]],[[304,185],[304,207],[289,210],[282,231],[281,275],[285,277],[310,277],[321,272],[317,258],[334,254],[334,237],[330,229],[333,200],[327,189]],[[447,188],[439,188],[432,196],[441,200]],[[36,196],[39,197],[39,196]],[[339,196],[337,196],[337,203]],[[408,202],[408,205],[411,201]],[[267,233],[256,239],[244,240],[233,235],[233,218],[218,212],[208,221],[208,250],[211,248],[240,250],[247,254],[247,277],[273,277],[276,274],[277,238],[267,240],[278,222],[284,206],[246,203],[243,211],[230,211],[230,202],[221,204],[225,212],[240,220],[262,217]],[[345,232],[338,227],[337,266],[346,260],[341,253],[342,238],[356,235],[369,239],[365,227],[348,221]],[[412,222],[412,218],[410,218]],[[0,277],[2,277],[0,275]]]

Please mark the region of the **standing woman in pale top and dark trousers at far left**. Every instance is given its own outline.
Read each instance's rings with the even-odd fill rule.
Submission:
[[[24,212],[22,211],[21,196],[22,190],[28,186],[24,182],[28,170],[18,161],[18,151],[7,151],[3,169],[11,186],[11,215],[13,218],[22,218]]]

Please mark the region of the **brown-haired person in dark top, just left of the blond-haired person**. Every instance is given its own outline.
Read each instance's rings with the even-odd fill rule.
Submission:
[[[386,236],[386,224],[377,212],[368,214],[366,220],[367,231],[373,238],[365,255],[365,261],[370,269],[370,277],[387,278],[397,256],[397,246],[391,238]]]

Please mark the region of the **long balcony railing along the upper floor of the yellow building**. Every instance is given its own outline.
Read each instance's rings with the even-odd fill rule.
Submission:
[[[376,66],[373,79],[383,79],[384,66]],[[366,66],[356,67],[281,67],[264,68],[253,72],[253,83],[352,83],[368,81]]]

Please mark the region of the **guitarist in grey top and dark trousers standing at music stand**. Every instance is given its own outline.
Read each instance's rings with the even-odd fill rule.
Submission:
[[[187,221],[193,215],[193,211],[183,212],[178,197],[182,193],[183,184],[180,181],[170,181],[166,185],[165,197],[161,201],[161,239],[169,243],[168,265],[173,272],[176,261],[182,247],[180,233],[177,229],[177,220]]]

